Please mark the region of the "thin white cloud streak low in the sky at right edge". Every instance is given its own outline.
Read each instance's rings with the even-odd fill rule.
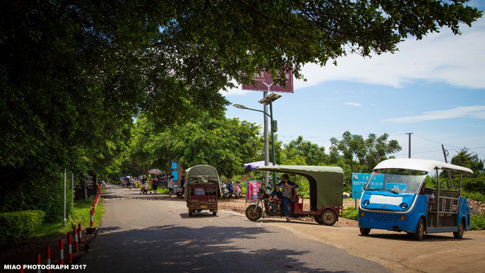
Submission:
[[[485,119],[485,106],[459,106],[448,110],[429,111],[422,115],[384,119],[383,122],[416,123],[436,119],[453,119],[456,117]]]

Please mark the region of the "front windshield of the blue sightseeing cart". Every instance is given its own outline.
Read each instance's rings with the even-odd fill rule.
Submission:
[[[364,190],[383,190],[394,193],[418,194],[427,172],[414,169],[377,169]]]

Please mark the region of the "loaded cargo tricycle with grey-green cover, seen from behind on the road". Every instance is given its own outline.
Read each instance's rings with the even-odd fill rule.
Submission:
[[[196,165],[185,171],[185,200],[189,216],[194,211],[210,210],[217,215],[217,200],[221,197],[221,181],[210,165]]]

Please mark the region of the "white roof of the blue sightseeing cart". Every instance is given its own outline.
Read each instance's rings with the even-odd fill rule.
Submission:
[[[436,160],[417,158],[391,158],[377,164],[374,169],[416,169],[423,172],[432,172],[434,169],[450,169],[472,174],[473,171],[466,167],[444,163]]]

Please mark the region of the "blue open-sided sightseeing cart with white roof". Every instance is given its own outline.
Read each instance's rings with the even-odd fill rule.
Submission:
[[[459,172],[458,191],[441,190],[440,169]],[[427,175],[434,174],[433,171],[437,189],[423,188]],[[359,202],[360,233],[368,235],[371,229],[406,231],[422,240],[425,233],[452,232],[454,238],[461,239],[463,231],[470,230],[470,208],[466,198],[461,197],[463,173],[473,171],[436,160],[382,161],[364,185]],[[428,204],[428,196],[434,196],[434,204]]]

